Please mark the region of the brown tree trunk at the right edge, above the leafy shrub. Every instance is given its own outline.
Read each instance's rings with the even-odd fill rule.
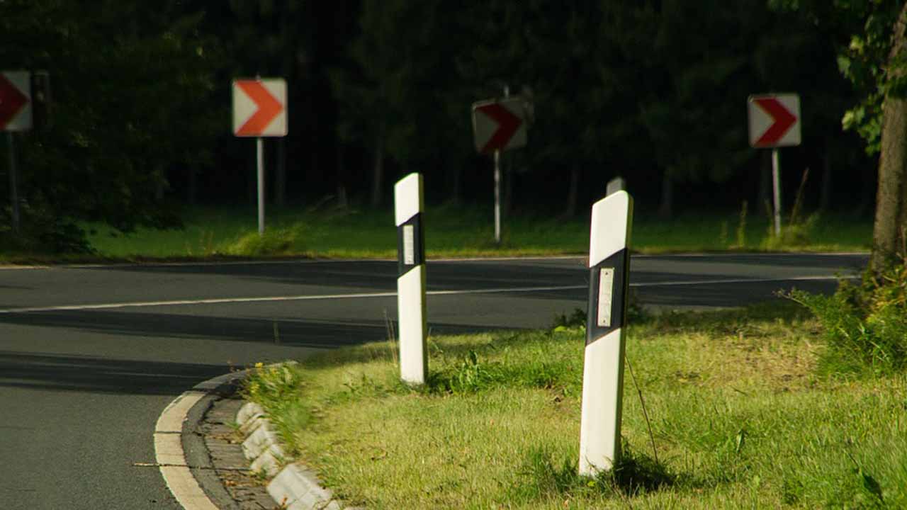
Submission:
[[[888,60],[894,73],[902,75],[896,61],[907,50],[905,39],[905,16],[907,4],[894,25],[892,52]],[[882,110],[882,152],[879,157],[879,187],[875,199],[875,222],[873,224],[873,256],[870,268],[881,271],[902,256],[904,250],[904,229],[907,228],[907,100],[902,97],[886,96]]]

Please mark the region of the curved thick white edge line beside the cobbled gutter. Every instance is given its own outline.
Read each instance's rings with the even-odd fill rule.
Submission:
[[[202,391],[187,391],[176,397],[158,417],[154,427],[156,464],[161,465],[161,476],[164,477],[167,488],[186,510],[218,510],[217,505],[211,503],[208,495],[205,495],[195,476],[192,476],[190,468],[186,467],[186,456],[179,434],[186,414],[204,396]]]

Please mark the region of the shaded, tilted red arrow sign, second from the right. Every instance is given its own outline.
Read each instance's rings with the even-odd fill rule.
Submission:
[[[473,104],[475,149],[483,154],[526,145],[525,108],[522,98],[481,101]]]

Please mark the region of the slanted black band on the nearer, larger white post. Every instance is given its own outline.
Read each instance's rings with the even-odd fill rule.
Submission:
[[[610,307],[605,306],[600,314],[600,283],[602,271],[610,270]],[[607,273],[606,273],[607,274]],[[604,337],[615,329],[627,324],[627,291],[629,289],[629,254],[627,249],[619,250],[609,258],[600,261],[589,270],[589,310],[586,316],[586,345]],[[606,278],[607,280],[607,278]],[[599,317],[605,315],[605,317]],[[602,324],[605,323],[604,325]]]

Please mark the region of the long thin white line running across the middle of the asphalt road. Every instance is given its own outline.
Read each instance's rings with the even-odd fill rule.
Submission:
[[[630,287],[676,287],[685,285],[719,285],[729,283],[772,283],[782,281],[823,281],[838,280],[839,278],[856,279],[858,276],[794,276],[787,278],[741,278],[726,280],[675,280],[675,281],[648,281],[630,283]],[[557,290],[589,289],[588,285],[561,285],[552,287],[510,287],[499,289],[460,289],[460,290],[429,290],[430,296],[453,296],[461,294],[506,294],[523,292],[549,292]],[[188,305],[219,305],[229,303],[264,303],[279,301],[310,301],[319,299],[371,299],[395,298],[396,292],[361,292],[350,294],[324,294],[304,296],[264,296],[259,298],[217,298],[217,299],[177,299],[171,301],[132,301],[123,303],[100,303],[93,305],[63,305],[56,307],[24,307],[18,309],[0,309],[0,314],[31,313],[44,311],[78,311],[95,309],[126,309],[145,307],[173,307]]]

